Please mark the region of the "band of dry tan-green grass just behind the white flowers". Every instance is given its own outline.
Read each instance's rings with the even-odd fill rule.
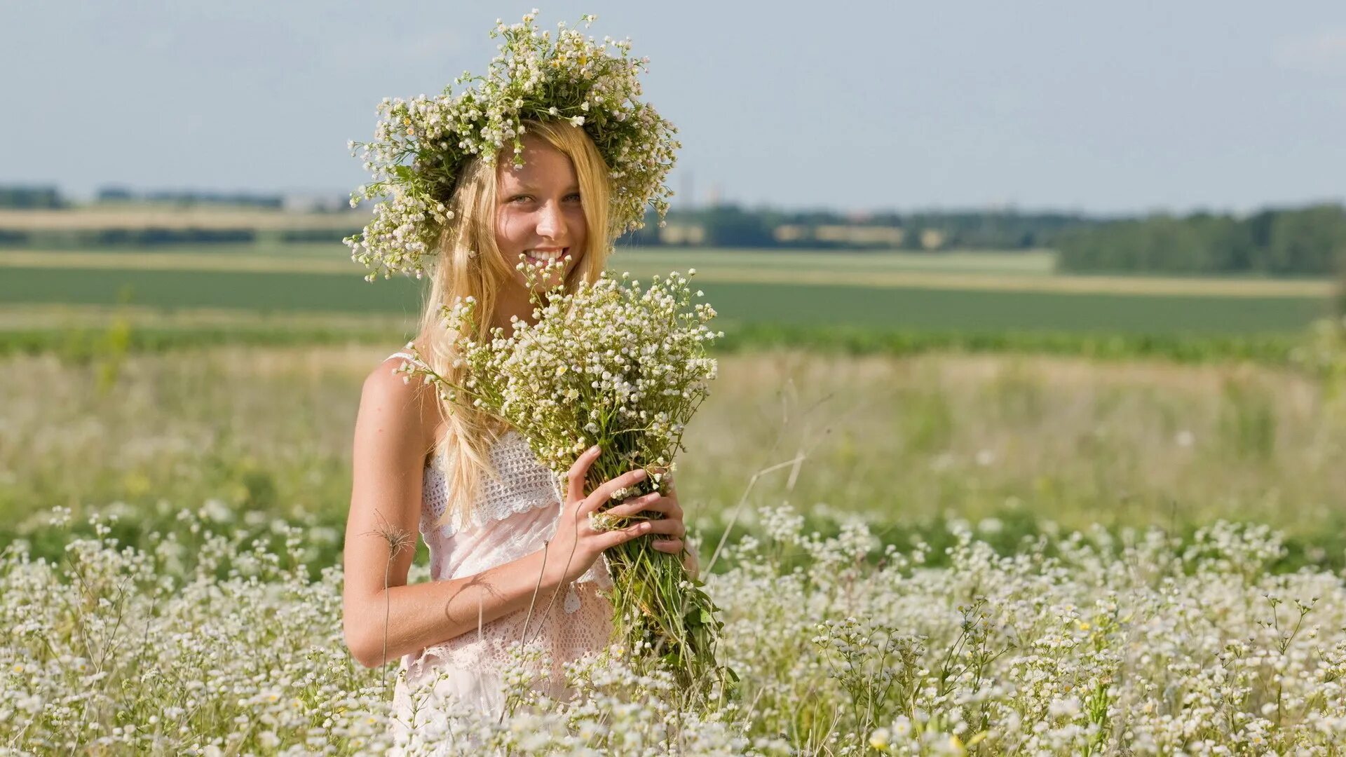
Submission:
[[[217,500],[335,529],[359,381],[393,349],[11,356],[0,523],[12,537],[39,509],[125,502],[148,521],[124,521],[133,539]],[[1346,423],[1333,407],[1314,380],[1253,365],[746,353],[723,357],[680,489],[713,539],[750,471],[802,455],[752,501],[864,511],[895,543],[992,519],[1005,548],[1051,524],[1260,520],[1288,532],[1295,559],[1343,564]]]

